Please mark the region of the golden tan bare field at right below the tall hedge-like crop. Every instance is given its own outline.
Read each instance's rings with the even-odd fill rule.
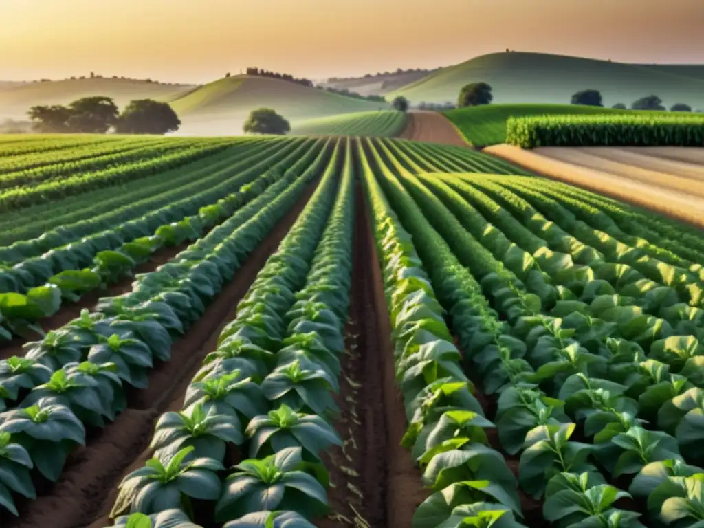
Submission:
[[[672,153],[661,149],[656,151],[658,154],[653,163],[653,168],[657,166],[660,171],[650,170],[642,168],[641,158],[634,160],[632,157],[633,153],[637,154],[639,151],[628,149],[621,154],[621,150],[605,149],[604,156],[595,156],[577,148],[541,147],[526,151],[503,144],[489,146],[484,152],[553,180],[573,184],[655,210],[675,220],[704,227],[704,178],[701,176],[704,175],[704,165],[700,167],[699,176],[693,163],[684,165],[686,162],[680,162],[679,167],[667,165],[668,161],[674,163],[671,156],[681,156],[679,151],[684,149],[672,149]],[[704,149],[687,150],[704,152]],[[661,172],[665,167],[669,167],[673,172]],[[683,167],[689,170],[689,175],[684,175]]]

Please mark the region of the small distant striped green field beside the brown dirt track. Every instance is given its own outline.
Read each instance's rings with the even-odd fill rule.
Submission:
[[[391,110],[331,115],[293,123],[291,134],[396,137],[403,131],[407,117],[406,113]]]

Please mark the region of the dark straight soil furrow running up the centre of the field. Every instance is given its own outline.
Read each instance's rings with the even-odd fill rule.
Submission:
[[[358,184],[359,185],[359,184]],[[365,248],[368,227],[365,224],[363,193],[356,189],[356,248]],[[319,520],[318,528],[357,526],[366,522],[372,528],[391,526],[386,522],[386,445],[387,431],[383,403],[383,376],[379,368],[376,314],[386,313],[375,306],[371,259],[366,251],[354,253],[349,320],[346,325],[345,355],[342,361],[340,392],[336,398],[341,413],[334,427],[344,441],[341,448],[330,449],[323,460],[334,487],[328,490],[332,515]],[[403,450],[398,448],[403,455]],[[363,525],[363,524],[360,524]]]

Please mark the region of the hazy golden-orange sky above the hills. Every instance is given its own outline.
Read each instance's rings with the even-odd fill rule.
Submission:
[[[318,79],[506,48],[704,63],[704,0],[0,0],[0,80]]]

